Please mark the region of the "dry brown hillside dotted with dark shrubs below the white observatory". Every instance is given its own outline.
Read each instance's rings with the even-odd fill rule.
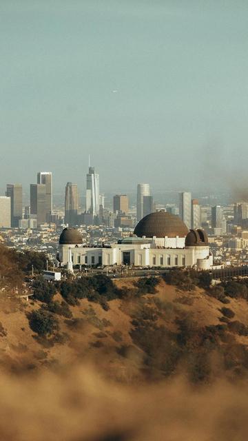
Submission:
[[[137,296],[136,282],[116,280],[127,294],[109,300],[107,310],[83,298],[69,306],[70,318],[52,314],[59,330],[47,337],[32,331],[28,320],[32,311],[44,309],[43,302],[2,300],[1,369],[19,373],[90,362],[104,376],[123,382],[175,373],[204,382],[224,371],[231,378],[246,376],[247,300],[229,297],[225,305],[205,289],[185,291],[162,279],[156,294]],[[61,304],[61,294],[54,301]],[[231,310],[231,318],[220,311],[223,307],[227,315]]]

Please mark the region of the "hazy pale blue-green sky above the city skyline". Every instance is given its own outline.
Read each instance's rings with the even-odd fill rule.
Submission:
[[[0,37],[1,189],[248,183],[247,0],[0,0]]]

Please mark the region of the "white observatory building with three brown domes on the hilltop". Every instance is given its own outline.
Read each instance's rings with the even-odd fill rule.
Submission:
[[[136,267],[196,267],[209,269],[213,258],[207,234],[187,229],[183,220],[168,212],[151,213],[141,219],[130,237],[110,246],[83,245],[77,229],[65,228],[59,238],[62,267],[73,265],[134,265]]]

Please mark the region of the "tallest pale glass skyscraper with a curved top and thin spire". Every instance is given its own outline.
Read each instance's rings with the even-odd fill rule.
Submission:
[[[99,174],[94,167],[89,167],[86,180],[86,213],[92,216],[99,214]]]

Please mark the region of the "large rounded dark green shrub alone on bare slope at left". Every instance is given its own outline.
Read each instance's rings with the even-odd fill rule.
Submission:
[[[53,314],[42,308],[32,311],[28,316],[28,320],[32,331],[39,334],[39,336],[49,336],[59,329],[58,321]]]

